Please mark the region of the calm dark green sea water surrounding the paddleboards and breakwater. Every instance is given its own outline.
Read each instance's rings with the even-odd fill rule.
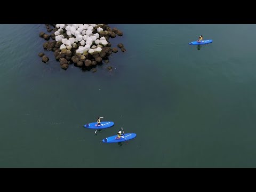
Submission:
[[[92,73],[61,69],[43,24],[0,25],[0,167],[256,167],[256,25],[110,27],[127,51]],[[120,127],[137,138],[101,142]]]

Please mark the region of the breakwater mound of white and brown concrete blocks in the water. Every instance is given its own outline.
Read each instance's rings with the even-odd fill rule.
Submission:
[[[74,63],[74,66],[90,70],[102,63],[102,60],[106,60],[107,63],[109,55],[118,52],[117,47],[122,52],[126,51],[122,43],[117,47],[111,47],[109,38],[122,36],[123,33],[117,28],[111,29],[106,24],[46,24],[46,28],[48,32],[53,33],[39,34],[47,41],[43,44],[44,50],[54,51],[55,59],[60,61],[62,69],[67,69]],[[38,55],[42,57],[43,62],[49,61],[44,53]],[[108,69],[110,70],[111,66]],[[93,72],[95,71],[94,68]]]

